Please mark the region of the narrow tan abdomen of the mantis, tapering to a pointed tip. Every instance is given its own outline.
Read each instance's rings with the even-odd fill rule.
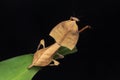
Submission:
[[[29,66],[47,66],[52,62],[53,56],[61,46],[54,43],[49,47],[40,49],[34,54],[34,62]]]

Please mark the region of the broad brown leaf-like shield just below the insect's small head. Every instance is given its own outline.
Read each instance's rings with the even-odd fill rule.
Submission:
[[[66,20],[56,25],[49,34],[61,46],[72,50],[79,38],[76,21]]]

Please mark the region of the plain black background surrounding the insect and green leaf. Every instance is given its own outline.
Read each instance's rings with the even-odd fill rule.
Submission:
[[[59,67],[46,67],[33,80],[120,79],[119,2],[115,0],[1,0],[0,60],[34,53],[39,40],[54,41],[50,30],[76,16],[80,34],[78,52],[66,56]]]

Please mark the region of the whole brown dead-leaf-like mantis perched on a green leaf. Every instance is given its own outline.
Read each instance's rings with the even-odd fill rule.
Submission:
[[[58,66],[60,63],[53,59],[54,55],[58,55],[58,58],[64,58],[63,55],[57,53],[58,49],[61,46],[64,46],[72,50],[77,44],[79,33],[87,28],[90,28],[90,26],[85,26],[78,30],[78,26],[76,24],[77,21],[79,21],[78,18],[70,17],[69,20],[62,21],[56,25],[49,34],[55,39],[55,43],[45,47],[45,41],[42,39],[38,45],[37,51],[34,54],[33,62],[28,68],[33,66]],[[41,45],[43,48],[39,49]]]

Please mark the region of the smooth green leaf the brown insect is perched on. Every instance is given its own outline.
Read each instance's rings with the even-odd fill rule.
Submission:
[[[65,47],[61,47],[58,53],[68,55],[76,51],[76,48],[69,50]],[[26,54],[1,61],[0,80],[31,80],[32,77],[42,69],[40,67],[28,69],[27,67],[32,63],[32,59],[33,54]]]

